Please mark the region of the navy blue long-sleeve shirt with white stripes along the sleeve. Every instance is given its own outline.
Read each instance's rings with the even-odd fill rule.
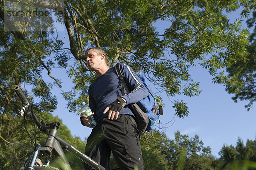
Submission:
[[[125,95],[122,95],[120,80],[114,67],[109,68],[105,74],[98,77],[89,87],[89,106],[94,112],[96,121],[108,116],[108,112],[103,114],[103,111],[116,100],[117,96],[121,96],[126,100],[126,106],[119,114],[133,115],[127,105],[137,103],[148,95],[143,82],[128,65],[120,63],[120,69],[130,93],[126,94],[127,92],[125,91]]]

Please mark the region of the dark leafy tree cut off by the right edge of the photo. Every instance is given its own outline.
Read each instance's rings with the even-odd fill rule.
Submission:
[[[249,17],[247,19],[248,28],[252,28],[256,23],[256,6],[254,4],[244,4],[245,8],[241,12],[241,15],[244,17]],[[252,16],[249,15],[249,12],[252,13]],[[238,84],[227,83],[227,92],[230,94],[235,94],[232,99],[237,102],[240,100],[247,100],[248,104],[245,105],[247,111],[253,105],[253,102],[256,101],[256,26],[253,29],[253,32],[249,36],[249,44],[247,44],[248,55],[244,56],[244,59],[237,61],[230,65],[227,68],[229,77],[234,77],[239,82]]]

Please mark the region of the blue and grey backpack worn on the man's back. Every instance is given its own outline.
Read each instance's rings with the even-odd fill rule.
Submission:
[[[122,95],[124,95],[124,88],[128,92],[128,88],[123,82],[123,76],[120,70],[120,62],[115,66],[116,74],[120,79],[121,87],[122,87]],[[145,87],[148,89],[148,96],[144,99],[141,99],[136,104],[131,105],[131,110],[135,114],[134,116],[137,119],[137,126],[140,133],[145,133],[145,131],[152,131],[154,126],[159,119],[159,115],[163,115],[163,108],[162,106],[156,105],[156,100],[154,95],[151,92],[151,86],[149,85],[147,79],[142,75],[139,74],[138,77],[142,80]]]

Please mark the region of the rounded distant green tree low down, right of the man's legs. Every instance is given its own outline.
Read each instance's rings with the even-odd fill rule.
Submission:
[[[189,139],[188,135],[175,133],[175,139],[166,144],[168,151],[169,169],[207,170],[217,167],[216,159],[211,155],[210,147],[195,135]]]

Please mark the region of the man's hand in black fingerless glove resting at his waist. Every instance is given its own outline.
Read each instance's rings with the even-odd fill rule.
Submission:
[[[108,105],[108,107],[105,109],[103,114],[105,114],[108,110],[108,119],[113,120],[114,116],[116,114],[116,119],[118,118],[119,112],[122,108],[124,108],[126,105],[126,100],[122,97],[117,97],[116,101]]]

